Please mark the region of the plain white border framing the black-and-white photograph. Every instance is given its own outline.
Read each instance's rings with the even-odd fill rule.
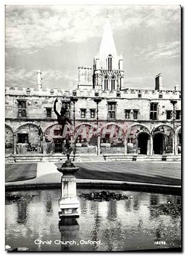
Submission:
[[[30,0],[28,0],[28,1],[23,1],[23,0],[19,0],[19,1],[14,1],[14,0],[9,0],[9,1],[4,1],[4,0],[1,0],[1,2],[0,2],[0,58],[1,58],[1,62],[0,62],[0,72],[1,72],[1,85],[0,85],[0,88],[1,88],[1,94],[0,94],[0,113],[1,113],[1,115],[0,115],[0,117],[1,117],[1,124],[2,124],[2,126],[1,126],[1,135],[2,135],[2,138],[1,138],[1,152],[0,152],[0,155],[1,155],[1,174],[2,174],[2,176],[1,176],[1,198],[2,198],[2,204],[1,204],[1,206],[2,206],[2,208],[1,209],[3,209],[3,210],[1,210],[1,220],[2,220],[2,222],[1,222],[1,224],[2,224],[2,230],[1,230],[1,236],[0,236],[0,239],[1,239],[1,244],[0,244],[0,250],[1,250],[1,253],[2,253],[2,255],[6,255],[6,252],[4,251],[4,83],[5,83],[5,78],[4,78],[4,6],[6,5],[6,4],[11,4],[11,5],[14,5],[14,4],[30,4],[30,5],[35,5],[35,4],[52,4],[52,5],[55,5],[55,4],[98,4],[98,5],[100,5],[100,4],[104,4],[104,5],[108,5],[108,4],[129,4],[129,5],[131,5],[131,4],[158,4],[158,5],[181,5],[182,7],[183,7],[183,9],[182,9],[182,26],[184,27],[183,28],[183,30],[182,30],[182,32],[183,32],[183,34],[185,34],[185,19],[184,19],[184,12],[185,12],[185,10],[184,10],[184,7],[185,7],[185,1],[184,0],[181,0],[181,1],[171,1],[171,0],[169,0],[169,1],[161,1],[161,0],[156,0],[156,1],[147,1],[147,0],[143,0],[143,1],[140,1],[140,0],[138,0],[138,1],[130,1],[130,0],[124,0],[124,1],[122,1],[122,0],[115,0],[115,1],[113,1],[113,0],[94,0],[94,1],[92,1],[92,0],[87,0],[87,1],[79,1],[79,0],[77,0],[77,1],[72,1],[72,0],[55,0],[54,2],[53,1],[42,1],[42,0],[40,0],[40,1],[30,1]],[[183,48],[185,48],[184,47],[184,45],[185,45],[185,40],[184,40],[185,38],[184,38],[184,35],[183,35],[183,44],[182,44],[182,49]],[[184,64],[184,60],[185,60],[185,54],[184,54],[184,56],[182,56],[182,58],[183,58],[183,64]],[[186,73],[186,68],[185,68],[185,66],[184,66],[184,69],[182,70],[182,73],[183,73],[183,77],[182,77],[182,90],[183,90],[183,88],[184,88],[184,73]],[[182,99],[186,99],[186,97],[185,97],[185,91],[186,91],[186,89],[184,89],[183,90],[184,91],[184,95],[182,96]],[[182,93],[183,94],[183,93]],[[184,100],[185,101],[185,100]],[[184,109],[182,109],[182,113],[183,113],[183,116],[182,116],[182,118],[183,117],[185,117],[185,114],[184,114],[184,110],[185,110],[185,104],[183,103],[183,106],[182,107],[184,107]],[[185,121],[185,118],[184,118],[184,121]],[[186,127],[186,126],[184,126],[184,127]],[[185,129],[184,129],[184,132],[185,132]],[[183,132],[183,133],[184,133]],[[184,138],[184,142],[185,142],[185,138]],[[184,145],[185,145],[185,143],[184,143]],[[185,152],[185,150],[184,150],[184,152]],[[185,154],[182,156],[182,159],[184,159],[184,157],[185,157]],[[183,168],[182,168],[182,173],[183,173],[183,177],[184,177],[184,180],[182,181],[184,184],[185,184],[185,176],[186,175],[184,175],[184,166],[183,166]],[[184,199],[185,199],[185,191],[184,191],[184,194],[183,194],[183,196],[184,196]],[[185,200],[183,200],[182,201],[182,203],[184,203],[184,201]],[[184,214],[182,214],[182,216],[184,217]],[[183,221],[182,223],[184,223],[185,224],[185,221]],[[185,225],[183,226],[183,231],[182,231],[182,233],[184,233],[184,231],[185,231]],[[182,244],[183,245],[186,245],[186,239],[185,239],[185,235],[184,235],[184,239],[182,240]],[[125,254],[134,254],[134,255],[137,255],[138,253],[136,252],[136,253],[132,253],[132,252],[130,252],[130,253],[128,253],[128,252],[124,252]],[[48,253],[47,253],[48,254]],[[53,253],[49,253],[49,254],[53,254]],[[66,253],[64,253],[63,252],[63,254],[66,254]],[[70,254],[73,254],[73,253],[70,253]],[[77,253],[78,255],[80,255],[79,253]],[[100,255],[101,253],[97,253],[97,255]],[[113,254],[118,254],[118,253],[113,253]],[[163,255],[163,254],[165,254],[165,253],[154,253],[154,254],[158,254],[158,255]],[[175,254],[175,255],[180,255],[180,253],[173,253],[173,254]],[[24,254],[24,253],[22,253],[22,255],[27,255],[27,254]],[[35,253],[35,255],[40,255],[40,253]],[[69,253],[68,253],[68,255],[69,255]]]

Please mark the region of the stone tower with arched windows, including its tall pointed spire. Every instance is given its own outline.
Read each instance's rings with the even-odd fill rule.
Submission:
[[[107,14],[100,49],[94,57],[93,88],[120,91],[123,75],[123,57],[117,54]]]

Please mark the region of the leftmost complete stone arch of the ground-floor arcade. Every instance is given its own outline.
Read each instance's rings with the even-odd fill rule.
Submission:
[[[43,129],[34,122],[21,124],[15,130],[18,154],[43,152]]]

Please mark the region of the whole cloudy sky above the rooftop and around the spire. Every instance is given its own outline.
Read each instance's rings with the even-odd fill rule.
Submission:
[[[76,89],[78,66],[92,66],[109,13],[124,85],[180,88],[180,6],[6,6],[6,86]]]

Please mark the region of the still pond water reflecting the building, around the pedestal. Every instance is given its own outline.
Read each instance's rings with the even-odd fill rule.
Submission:
[[[99,190],[77,192],[82,194],[91,191]],[[11,192],[22,194],[24,198],[15,202],[6,201],[5,244],[16,248],[27,247],[30,251],[121,251],[180,247],[180,212],[168,209],[164,213],[157,209],[163,203],[180,206],[180,196],[118,190],[112,192],[133,198],[120,201],[78,198],[80,216],[78,224],[72,226],[64,226],[59,222],[60,190]],[[35,196],[28,198],[32,194]],[[38,240],[49,241],[50,244],[40,244]],[[59,240],[74,242],[61,245]],[[88,240],[99,242],[84,244]],[[164,244],[156,245],[156,242]]]

